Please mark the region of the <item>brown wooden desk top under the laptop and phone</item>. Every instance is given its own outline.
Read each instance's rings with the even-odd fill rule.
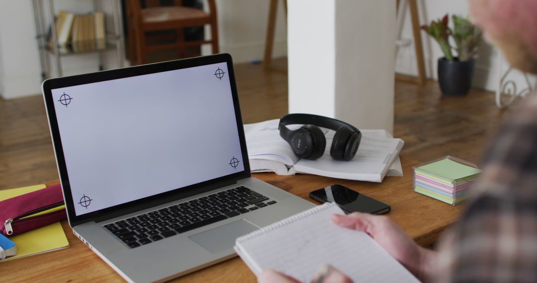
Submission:
[[[430,245],[446,226],[458,219],[462,206],[451,206],[412,191],[412,166],[420,162],[401,158],[404,177],[386,177],[382,183],[336,180],[314,175],[278,176],[258,173],[255,177],[308,199],[312,190],[334,183],[346,185],[391,205],[388,214],[420,245]],[[55,184],[50,182],[47,185]],[[110,266],[94,254],[62,221],[70,248],[0,263],[4,282],[32,281],[122,281]],[[150,264],[149,264],[150,265]],[[252,282],[256,278],[238,257],[175,279],[180,282]]]

